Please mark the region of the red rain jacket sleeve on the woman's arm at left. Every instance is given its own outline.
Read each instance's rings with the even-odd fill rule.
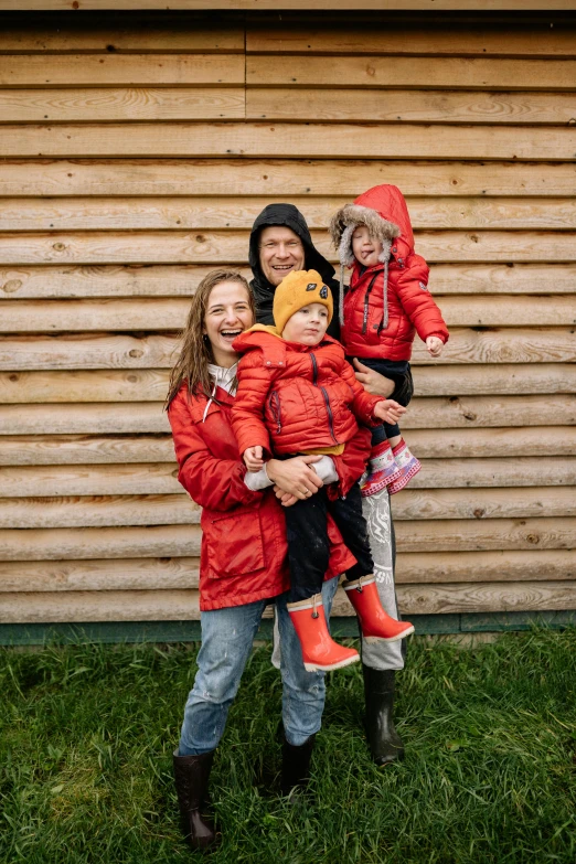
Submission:
[[[220,412],[210,415],[211,425],[217,423],[217,417],[222,422]],[[262,498],[262,492],[250,492],[244,483],[246,468],[238,459],[218,459],[213,455],[191,416],[184,392],[170,405],[168,419],[180,467],[179,482],[196,504],[209,510],[231,510]]]

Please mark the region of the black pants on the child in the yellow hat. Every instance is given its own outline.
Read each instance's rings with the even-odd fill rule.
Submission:
[[[329,513],[358,561],[346,572],[348,578],[353,582],[374,573],[359,484],[354,483],[345,498],[335,501],[329,500],[326,487],[322,487],[310,498],[286,508],[290,602],[307,600],[322,590],[330,558]]]

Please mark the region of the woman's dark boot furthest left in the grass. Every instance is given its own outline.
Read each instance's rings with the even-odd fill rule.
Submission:
[[[214,822],[202,810],[207,800],[207,785],[215,750],[202,756],[179,756],[174,750],[174,781],[180,806],[182,831],[192,849],[206,849],[216,840]]]

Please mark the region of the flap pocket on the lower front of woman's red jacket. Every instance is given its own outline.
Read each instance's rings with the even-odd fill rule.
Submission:
[[[206,573],[211,579],[243,576],[264,569],[260,514],[257,510],[202,520]]]

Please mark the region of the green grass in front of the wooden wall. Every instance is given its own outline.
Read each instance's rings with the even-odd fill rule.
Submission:
[[[177,864],[171,780],[194,675],[185,646],[0,652],[0,862]],[[270,794],[280,685],[257,650],[213,771],[215,864],[576,862],[576,630],[463,650],[415,639],[399,676],[402,765],[378,771],[362,682],[330,676],[312,799]],[[204,858],[205,860],[205,858]]]

